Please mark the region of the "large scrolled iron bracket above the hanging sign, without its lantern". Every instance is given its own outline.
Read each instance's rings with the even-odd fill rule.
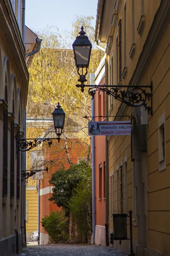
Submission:
[[[149,114],[152,115],[152,82],[150,85],[85,85],[85,84],[77,84],[77,87],[80,87],[82,92],[84,92],[84,87],[89,87],[88,94],[92,96],[94,99],[94,95],[96,91],[106,92],[108,95],[114,97],[114,99],[118,99],[120,102],[125,103],[130,107],[140,107],[144,106],[144,108],[148,111]],[[124,90],[127,88],[127,90]],[[149,92],[146,89],[149,89]],[[150,101],[150,105],[147,103]]]

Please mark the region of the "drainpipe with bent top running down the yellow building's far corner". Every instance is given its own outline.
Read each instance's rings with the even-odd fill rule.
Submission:
[[[106,50],[99,46],[96,41],[96,47],[103,52]],[[108,56],[105,53],[105,84],[108,84]],[[105,121],[108,121],[108,94],[105,93]],[[108,140],[105,138],[105,239],[106,246],[109,246],[109,168],[108,168]]]

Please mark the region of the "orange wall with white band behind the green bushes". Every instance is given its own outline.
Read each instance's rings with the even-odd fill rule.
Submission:
[[[56,135],[53,137],[55,136]],[[67,170],[70,167],[69,161],[76,164],[86,156],[87,147],[81,143],[80,139],[69,138],[66,141],[69,149],[69,159],[64,149],[65,143],[62,138],[59,143],[57,140],[53,140],[51,147],[45,145],[44,148],[44,167],[46,168],[46,166],[48,166],[48,173],[44,172],[43,178],[40,180],[40,222],[45,215],[50,215],[50,212],[61,210],[61,208],[57,207],[57,204],[54,204],[53,201],[49,201],[53,193],[53,186],[49,183],[52,174],[63,167]],[[61,150],[61,148],[64,150]],[[50,163],[52,163],[52,165]],[[40,244],[48,244],[48,233],[41,224]]]

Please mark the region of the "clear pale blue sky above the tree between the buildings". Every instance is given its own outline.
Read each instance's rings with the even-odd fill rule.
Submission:
[[[98,0],[26,0],[26,26],[38,31],[57,26],[59,32],[71,31],[75,15],[93,16],[96,24]]]

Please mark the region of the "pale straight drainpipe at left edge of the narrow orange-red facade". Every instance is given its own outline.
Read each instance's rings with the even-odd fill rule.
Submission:
[[[95,84],[95,74],[90,74],[91,85]],[[91,116],[94,116],[94,99],[91,100]],[[95,184],[95,137],[91,136],[91,158],[92,158],[92,230],[93,238],[92,244],[95,244],[95,234],[96,234],[96,184]]]

